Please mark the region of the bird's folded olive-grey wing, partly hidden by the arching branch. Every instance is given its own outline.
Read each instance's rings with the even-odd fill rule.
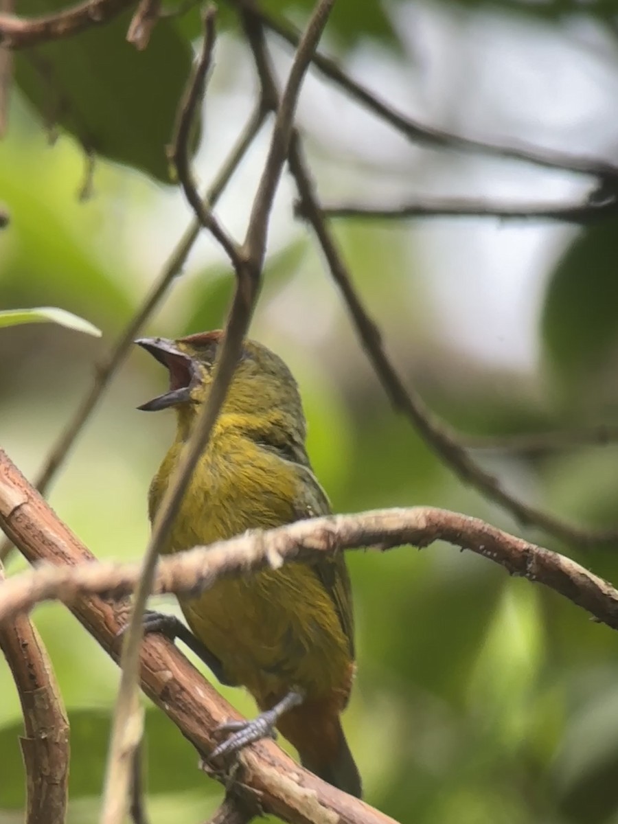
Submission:
[[[295,514],[297,520],[320,515],[330,515],[330,501],[324,489],[317,482],[316,476],[307,466],[297,465],[298,471],[302,472],[302,484],[300,485],[301,497],[295,503]],[[320,578],[326,592],[335,606],[341,629],[348,639],[349,651],[354,658],[354,616],[352,611],[352,590],[349,583],[348,568],[345,565],[343,553],[337,555],[321,555],[315,561],[310,562],[310,566],[315,570]]]

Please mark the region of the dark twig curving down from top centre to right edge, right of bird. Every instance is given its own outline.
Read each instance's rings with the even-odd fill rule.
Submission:
[[[528,506],[513,494],[508,493],[494,475],[490,475],[471,458],[458,441],[458,436],[442,424],[424,404],[422,398],[414,390],[405,386],[390,358],[386,355],[380,330],[368,315],[353,287],[343,256],[321,213],[311,176],[297,139],[292,143],[289,165],[302,202],[302,213],[306,215],[307,221],[316,233],[333,279],[344,297],[358,338],[387,396],[391,399],[392,405],[410,419],[424,441],[433,448],[433,451],[447,466],[452,467],[452,470],[462,480],[474,486],[486,498],[499,503],[523,524],[541,527],[548,534],[570,544],[590,546],[618,541],[616,529],[599,531],[583,529],[542,512],[540,509]]]

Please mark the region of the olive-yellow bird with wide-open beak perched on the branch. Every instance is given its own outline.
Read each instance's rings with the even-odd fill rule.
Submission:
[[[176,437],[149,489],[151,522],[208,399],[222,339],[214,330],[135,341],[167,368],[170,381],[168,391],[138,409],[176,411]],[[246,339],[162,552],[330,514],[306,433],[292,372],[265,345]],[[360,798],[360,775],[340,720],[356,672],[344,555],[221,578],[178,600],[189,629],[174,616],[151,612],[146,630],[185,641],[219,681],[244,686],[260,709],[256,719],[224,725],[228,737],[211,757],[273,735],[276,726],[303,766]]]

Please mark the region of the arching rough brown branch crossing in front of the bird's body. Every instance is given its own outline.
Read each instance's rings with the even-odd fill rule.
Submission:
[[[6,519],[4,513],[10,510],[13,495],[12,483],[0,484],[0,518],[5,517],[9,526],[11,517]],[[20,517],[22,529],[36,528],[36,524],[30,524],[30,516],[25,518],[20,513]],[[479,518],[433,507],[311,518],[269,531],[252,531],[206,548],[196,547],[159,560],[153,593],[201,592],[224,576],[266,567],[277,569],[284,562],[315,559],[319,553],[332,555],[358,548],[387,550],[402,544],[426,547],[434,541],[448,541],[489,558],[512,575],[542,583],[618,630],[618,592],[602,578],[564,555],[509,535]],[[124,597],[132,592],[139,572],[139,564],[93,563],[22,573],[2,588],[0,620],[51,598],[72,604],[85,593]]]

